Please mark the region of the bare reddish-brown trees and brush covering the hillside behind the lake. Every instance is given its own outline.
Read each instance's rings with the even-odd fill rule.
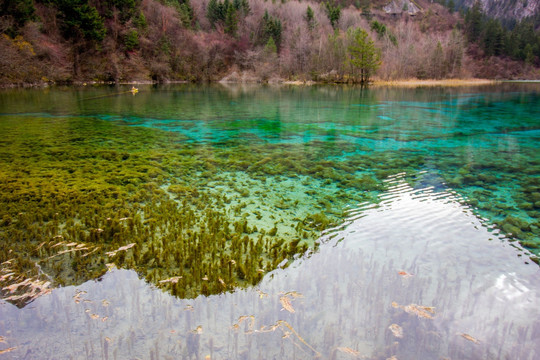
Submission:
[[[521,62],[486,58],[474,46],[464,55],[463,36],[452,30],[459,15],[427,0],[418,1],[425,11],[414,17],[387,15],[372,2],[373,19],[388,30],[379,36],[353,6],[342,9],[338,33],[334,33],[320,3],[248,0],[250,12],[238,19],[237,35],[231,36],[219,26],[211,28],[206,19],[208,0],[191,0],[193,29],[184,28],[177,9],[166,2],[142,0],[139,10],[148,26],[140,29],[133,20],[121,20],[114,10],[104,17],[107,36],[97,47],[63,38],[54,7],[37,3],[39,23],[26,24],[18,40],[1,35],[0,82],[215,81],[235,71],[247,75],[237,78],[253,79],[254,75],[261,81],[278,77],[342,81],[350,71],[345,64],[344,36],[349,28],[368,31],[382,50],[382,66],[375,75],[380,79],[540,76]],[[315,20],[311,27],[306,21],[308,5]],[[266,11],[282,24],[279,54],[269,52],[260,41]],[[138,44],[128,47],[125,39],[134,32]]]

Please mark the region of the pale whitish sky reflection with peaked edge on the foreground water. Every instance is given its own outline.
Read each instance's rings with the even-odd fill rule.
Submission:
[[[400,175],[387,185],[317,253],[257,287],[182,300],[112,269],[24,309],[0,303],[1,349],[14,359],[537,359],[538,266],[452,191]]]

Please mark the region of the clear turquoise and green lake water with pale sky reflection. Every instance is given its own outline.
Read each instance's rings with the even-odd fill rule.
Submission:
[[[540,356],[537,84],[126,90],[0,93],[4,357]]]

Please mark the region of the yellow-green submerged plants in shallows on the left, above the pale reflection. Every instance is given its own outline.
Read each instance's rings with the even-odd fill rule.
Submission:
[[[20,306],[109,263],[180,297],[256,284],[316,248],[346,202],[381,187],[351,174],[358,159],[334,166],[296,146],[186,146],[89,118],[2,125],[0,281]]]

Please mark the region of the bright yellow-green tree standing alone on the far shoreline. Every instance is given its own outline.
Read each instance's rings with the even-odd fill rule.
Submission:
[[[363,29],[349,29],[347,32],[349,46],[347,62],[352,68],[352,75],[359,78],[361,84],[369,82],[371,76],[381,66],[381,51]]]

